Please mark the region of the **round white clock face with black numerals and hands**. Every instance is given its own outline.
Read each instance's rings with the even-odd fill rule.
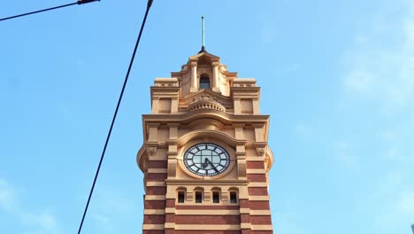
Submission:
[[[184,153],[184,165],[196,175],[219,175],[228,168],[229,164],[228,152],[217,144],[196,144]]]

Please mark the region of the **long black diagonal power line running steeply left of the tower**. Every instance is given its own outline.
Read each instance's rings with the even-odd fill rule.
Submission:
[[[94,192],[94,189],[95,189],[96,179],[97,179],[97,176],[99,175],[99,171],[101,169],[101,165],[102,165],[102,161],[103,161],[103,156],[105,155],[105,152],[106,152],[106,146],[108,145],[109,139],[111,137],[111,132],[112,132],[113,124],[114,124],[114,122],[115,122],[115,120],[117,118],[117,114],[118,114],[118,110],[119,110],[119,105],[121,103],[122,97],[124,96],[124,90],[125,90],[125,87],[126,87],[126,82],[128,82],[128,77],[129,77],[129,74],[131,72],[131,68],[132,68],[132,66],[134,64],[134,58],[135,58],[136,50],[138,49],[138,45],[140,44],[141,36],[142,36],[142,30],[145,27],[145,21],[147,21],[147,16],[148,16],[149,8],[151,7],[152,2],[153,2],[153,0],[148,0],[147,10],[146,10],[145,16],[144,16],[144,18],[142,20],[142,25],[141,25],[140,33],[139,33],[138,38],[137,38],[136,43],[135,43],[134,52],[133,52],[131,61],[129,62],[128,71],[126,72],[126,77],[125,77],[124,85],[122,86],[122,90],[121,90],[121,92],[119,94],[118,104],[117,104],[117,107],[115,109],[115,113],[113,114],[113,117],[112,117],[111,127],[109,129],[108,136],[106,136],[106,142],[105,142],[105,144],[103,146],[103,152],[102,152],[102,155],[101,155],[101,160],[99,160],[99,165],[98,165],[98,168],[96,169],[96,175],[95,175],[95,178],[94,178],[94,183],[92,183],[92,188],[90,189],[90,192],[89,192],[88,202],[87,202],[87,205],[85,207],[85,211],[83,212],[83,216],[82,216],[82,220],[80,222],[78,234],[80,234],[80,231],[82,230],[83,221],[85,220],[85,216],[86,216],[86,214],[88,212],[90,198],[92,197],[92,193]]]

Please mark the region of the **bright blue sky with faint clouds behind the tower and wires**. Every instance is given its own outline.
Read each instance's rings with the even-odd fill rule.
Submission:
[[[0,227],[75,233],[146,1],[0,22]],[[0,18],[66,2],[4,1]],[[200,50],[254,77],[275,233],[409,234],[414,223],[412,1],[155,0],[82,233],[141,233],[149,86]]]

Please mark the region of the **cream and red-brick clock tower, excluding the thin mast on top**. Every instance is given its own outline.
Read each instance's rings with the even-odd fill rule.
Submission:
[[[269,115],[253,78],[205,50],[156,78],[136,160],[144,234],[271,234]]]

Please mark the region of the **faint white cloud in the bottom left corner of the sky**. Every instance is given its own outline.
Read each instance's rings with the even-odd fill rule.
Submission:
[[[0,210],[11,214],[27,227],[25,234],[57,234],[58,222],[49,211],[33,212],[19,205],[19,196],[12,186],[0,178]]]

